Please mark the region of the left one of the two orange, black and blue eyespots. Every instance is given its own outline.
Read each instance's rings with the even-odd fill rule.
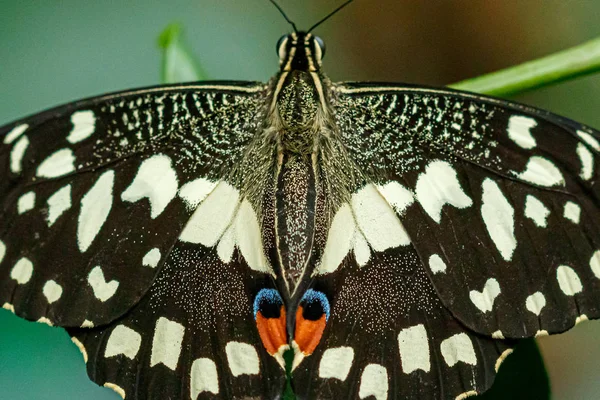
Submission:
[[[285,305],[275,289],[261,289],[254,298],[254,319],[265,349],[283,360],[287,348]]]

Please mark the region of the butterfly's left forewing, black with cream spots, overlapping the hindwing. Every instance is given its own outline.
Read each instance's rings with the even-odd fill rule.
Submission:
[[[253,136],[261,90],[145,89],[2,128],[0,304],[71,327],[125,313]]]

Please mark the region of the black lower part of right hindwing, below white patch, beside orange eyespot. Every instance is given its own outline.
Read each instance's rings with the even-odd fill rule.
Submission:
[[[313,284],[332,299],[331,315],[315,352],[293,371],[299,399],[454,399],[483,392],[514,345],[462,325],[412,246],[373,253],[360,267],[351,254]]]

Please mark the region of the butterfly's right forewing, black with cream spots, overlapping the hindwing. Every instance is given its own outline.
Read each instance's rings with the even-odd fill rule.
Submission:
[[[598,132],[472,94],[336,91],[351,158],[395,208],[454,316],[513,338],[598,318]]]

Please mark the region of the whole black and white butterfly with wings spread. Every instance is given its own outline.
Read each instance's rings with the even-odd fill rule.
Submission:
[[[277,48],[0,128],[0,305],[127,399],[461,399],[599,317],[598,131]]]

